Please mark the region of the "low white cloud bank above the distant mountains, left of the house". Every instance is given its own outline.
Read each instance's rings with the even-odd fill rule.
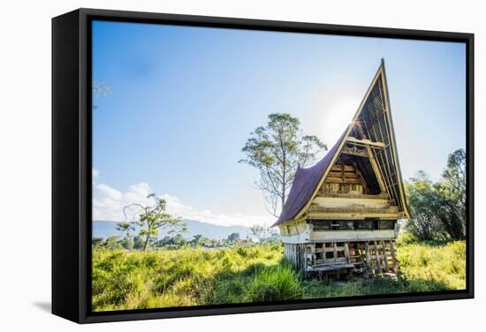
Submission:
[[[93,198],[93,219],[103,221],[123,221],[125,215],[123,208],[130,204],[136,203],[141,205],[152,205],[154,199],[148,199],[149,193],[153,192],[146,183],[130,185],[126,192],[120,192],[109,185],[95,185],[98,193]],[[270,216],[262,215],[245,215],[242,213],[225,214],[215,212],[209,209],[198,210],[191,205],[179,200],[177,197],[164,193],[160,196],[167,201],[167,212],[171,215],[180,216],[185,219],[198,220],[205,223],[214,223],[217,225],[243,225],[251,226],[256,223],[272,223]],[[136,214],[136,208],[128,209],[127,216],[129,220]]]

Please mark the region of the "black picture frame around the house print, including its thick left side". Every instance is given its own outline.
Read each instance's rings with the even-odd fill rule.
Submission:
[[[91,300],[91,30],[93,19],[180,26],[459,41],[467,51],[467,289],[93,313]],[[474,298],[474,34],[136,11],[78,9],[52,19],[52,313],[78,323]]]

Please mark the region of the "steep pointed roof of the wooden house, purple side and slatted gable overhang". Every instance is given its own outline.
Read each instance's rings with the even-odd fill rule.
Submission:
[[[361,136],[361,139],[371,142],[383,143],[384,147],[380,153],[376,153],[374,149],[370,151],[374,155],[383,186],[386,188],[390,200],[395,201],[399,206],[399,211],[402,211],[405,217],[410,216],[399,166],[397,142],[391,120],[390,97],[382,59],[375,78],[368,87],[351,124],[347,126],[336,144],[320,162],[307,169],[296,171],[282,213],[272,227],[298,219],[307,211],[317,191],[323,185],[330,167],[341,153],[346,140],[353,139],[355,136]]]

